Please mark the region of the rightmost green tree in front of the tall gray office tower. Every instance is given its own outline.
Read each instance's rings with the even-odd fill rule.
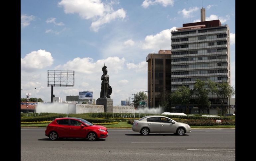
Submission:
[[[218,99],[221,101],[221,108],[223,108],[224,106],[225,99],[228,99],[228,97],[230,98],[235,95],[234,87],[228,85],[228,83],[223,81],[222,83],[215,83],[209,80],[208,87],[210,89],[210,92],[212,94],[215,93]]]

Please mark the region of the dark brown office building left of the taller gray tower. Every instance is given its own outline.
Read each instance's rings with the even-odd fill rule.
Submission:
[[[171,91],[171,50],[148,54],[148,107],[158,107],[166,91]]]

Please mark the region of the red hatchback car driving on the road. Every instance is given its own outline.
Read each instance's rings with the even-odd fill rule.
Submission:
[[[47,125],[45,135],[51,140],[58,138],[88,138],[95,141],[108,136],[104,126],[94,125],[80,118],[58,118]]]

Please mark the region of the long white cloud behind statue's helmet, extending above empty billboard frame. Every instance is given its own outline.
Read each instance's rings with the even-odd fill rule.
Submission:
[[[118,73],[123,69],[124,62],[125,59],[120,59],[119,57],[108,57],[106,59],[97,60],[96,62],[94,62],[93,59],[89,57],[77,57],[66,62],[64,65],[59,65],[55,68],[55,70],[75,70],[75,72],[91,74],[94,72],[102,72],[102,67],[105,63],[107,67],[113,67],[114,73]]]

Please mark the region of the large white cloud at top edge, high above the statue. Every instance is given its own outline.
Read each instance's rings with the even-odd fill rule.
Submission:
[[[118,3],[111,1],[107,4],[101,2],[101,0],[62,0],[59,2],[59,5],[64,7],[66,14],[78,13],[82,19],[91,19],[93,22],[90,29],[94,32],[97,32],[104,24],[126,17],[124,9],[114,11],[113,4]]]

